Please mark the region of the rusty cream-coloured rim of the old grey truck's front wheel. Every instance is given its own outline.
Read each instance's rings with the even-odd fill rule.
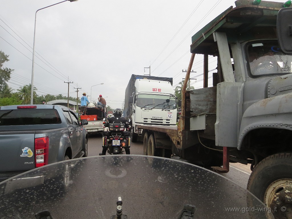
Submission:
[[[292,211],[292,179],[274,181],[265,192],[264,203],[275,218],[290,218]]]

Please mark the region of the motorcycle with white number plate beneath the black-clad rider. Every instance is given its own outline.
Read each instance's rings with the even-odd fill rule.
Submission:
[[[126,148],[130,148],[130,132],[126,131],[125,124],[108,123],[105,118],[102,122],[109,131],[102,132],[102,147],[108,148],[109,154],[123,154]]]

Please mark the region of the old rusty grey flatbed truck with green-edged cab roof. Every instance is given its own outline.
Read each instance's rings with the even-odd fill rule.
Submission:
[[[278,12],[290,4],[235,1],[192,36],[178,127],[137,127],[145,155],[176,154],[220,173],[230,162],[250,164],[247,189],[275,218],[292,209],[292,55],[277,36]],[[204,62],[203,88],[187,91],[195,54]]]

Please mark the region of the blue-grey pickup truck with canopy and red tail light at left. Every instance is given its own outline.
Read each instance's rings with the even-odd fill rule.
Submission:
[[[87,157],[86,124],[64,106],[1,106],[0,182],[40,166]]]

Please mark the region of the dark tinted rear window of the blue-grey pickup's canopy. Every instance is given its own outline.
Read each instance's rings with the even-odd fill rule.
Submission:
[[[60,124],[56,109],[0,110],[0,126]]]

